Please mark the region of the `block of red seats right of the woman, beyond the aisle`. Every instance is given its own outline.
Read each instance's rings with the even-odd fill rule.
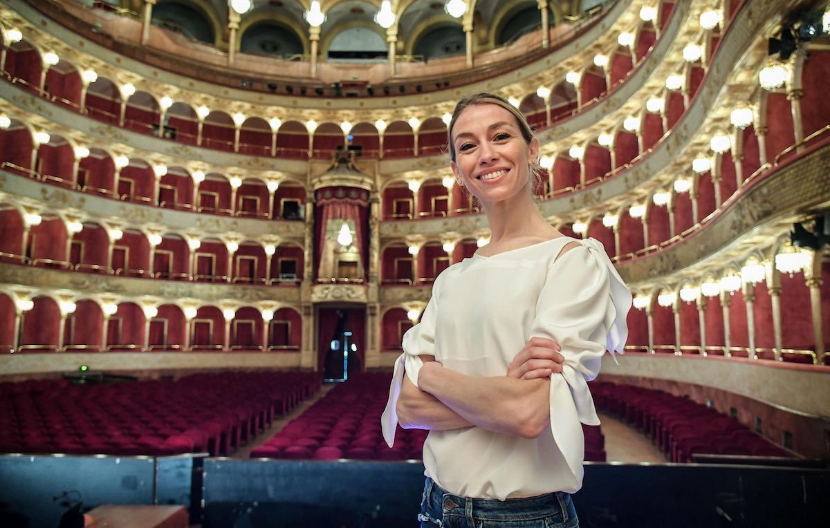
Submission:
[[[737,419],[688,398],[607,382],[593,382],[591,392],[598,409],[650,436],[671,462],[695,462],[696,454],[793,456]]]

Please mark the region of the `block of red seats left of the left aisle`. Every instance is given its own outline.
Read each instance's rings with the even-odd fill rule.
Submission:
[[[228,455],[320,389],[304,372],[0,384],[0,453]]]

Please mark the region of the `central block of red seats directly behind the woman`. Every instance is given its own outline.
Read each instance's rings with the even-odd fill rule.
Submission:
[[[401,429],[389,448],[383,440],[380,416],[388,397],[389,373],[350,377],[291,420],[260,447],[251,458],[332,460],[406,460],[422,457],[428,431]],[[605,461],[604,438],[598,427],[583,426],[585,457]]]

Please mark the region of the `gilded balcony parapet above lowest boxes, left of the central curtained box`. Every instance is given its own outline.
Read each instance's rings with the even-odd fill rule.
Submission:
[[[61,290],[77,298],[115,293],[126,298],[164,298],[169,302],[196,298],[200,303],[234,300],[241,303],[274,301],[299,305],[300,288],[269,288],[243,284],[189,283],[160,279],[129,279],[110,275],[67,273],[55,269],[0,264],[0,284],[44,292]]]

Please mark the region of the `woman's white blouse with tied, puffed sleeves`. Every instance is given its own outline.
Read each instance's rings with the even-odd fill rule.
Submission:
[[[559,256],[564,245],[579,242]],[[582,487],[580,422],[598,425],[587,381],[608,350],[623,352],[632,295],[597,240],[561,237],[485,257],[475,254],[436,279],[421,322],[403,336],[383,438],[394,442],[405,369],[417,385],[422,354],[466,375],[505,375],[531,337],[559,343],[563,371],[550,376],[550,434],[522,438],[480,427],[430,431],[427,477],[462,497],[501,501]]]

